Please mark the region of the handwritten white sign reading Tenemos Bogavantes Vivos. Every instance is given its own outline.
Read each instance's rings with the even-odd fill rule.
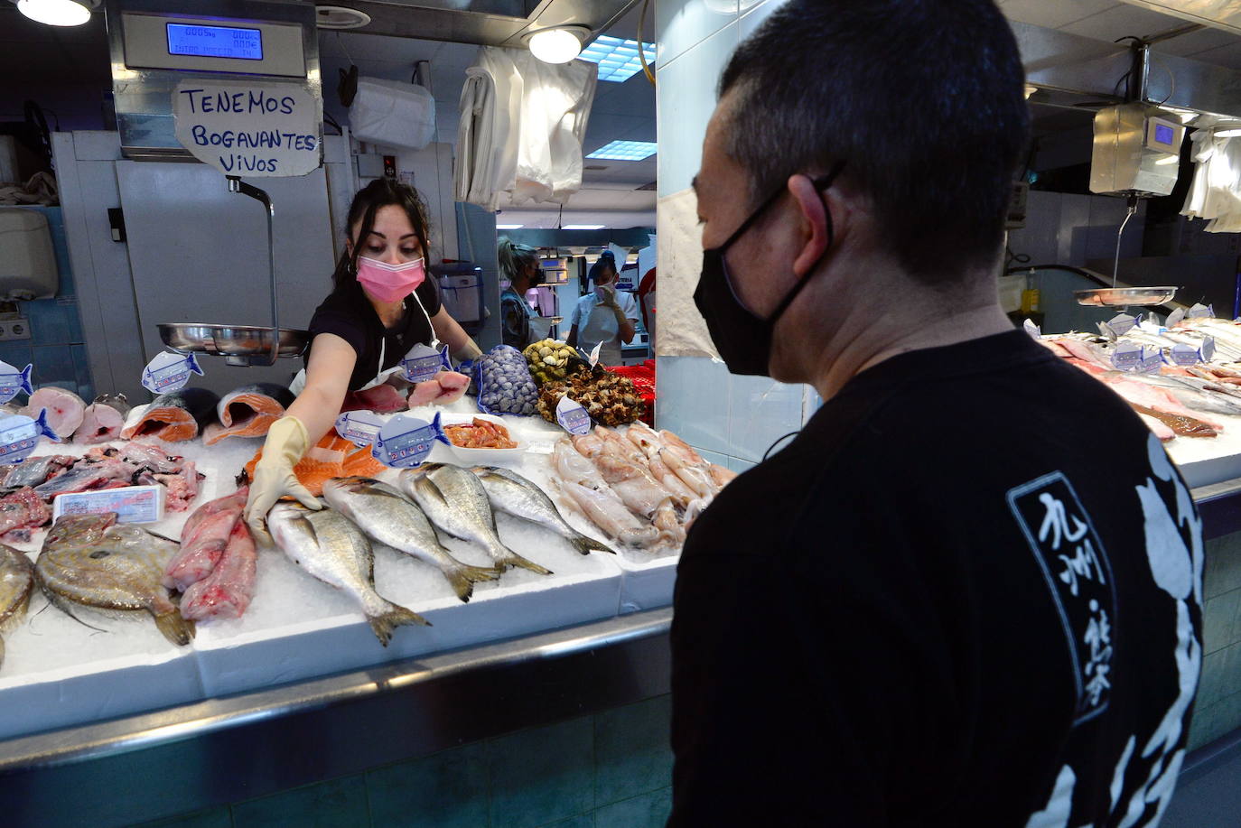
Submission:
[[[323,164],[320,103],[297,83],[185,79],[176,139],[225,175],[305,175]]]

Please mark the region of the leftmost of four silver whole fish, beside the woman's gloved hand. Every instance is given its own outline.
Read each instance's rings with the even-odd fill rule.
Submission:
[[[339,511],[310,511],[300,504],[277,503],[267,514],[276,545],[290,561],[328,586],[350,595],[361,606],[371,631],[387,647],[392,631],[431,622],[375,591],[375,554],[366,535]]]

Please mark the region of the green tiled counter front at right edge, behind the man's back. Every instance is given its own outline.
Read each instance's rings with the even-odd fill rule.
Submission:
[[[1203,678],[1190,750],[1241,727],[1241,533],[1209,540],[1205,557]]]

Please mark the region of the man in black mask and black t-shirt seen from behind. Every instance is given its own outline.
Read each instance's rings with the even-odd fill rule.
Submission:
[[[1201,523],[1132,410],[1000,309],[1026,140],[989,0],[791,0],[724,72],[696,303],[802,433],[694,525],[670,826],[1154,826]]]

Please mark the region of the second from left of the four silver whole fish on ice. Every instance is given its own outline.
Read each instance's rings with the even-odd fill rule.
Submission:
[[[323,497],[372,540],[438,569],[462,601],[469,601],[475,583],[500,577],[498,569],[470,566],[453,557],[418,504],[387,483],[369,477],[338,478],[323,484]]]

